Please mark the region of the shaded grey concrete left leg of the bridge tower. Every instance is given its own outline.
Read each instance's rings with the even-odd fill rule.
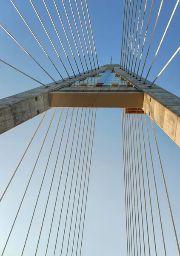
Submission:
[[[72,76],[71,79],[66,78],[65,81],[59,80],[57,84],[47,84],[47,88],[41,86],[0,99],[0,134],[48,110],[50,108],[49,93],[53,90],[57,90],[60,87],[95,75],[104,70],[106,70],[106,67],[100,67],[100,69],[93,70],[89,73],[81,73],[81,76]]]

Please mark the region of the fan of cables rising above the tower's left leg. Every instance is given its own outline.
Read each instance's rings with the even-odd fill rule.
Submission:
[[[46,57],[49,59],[49,61],[51,62],[51,64],[53,65],[53,67],[55,68],[55,70],[57,71],[58,75],[60,76],[60,78],[64,80],[63,76],[61,75],[59,69],[57,68],[57,66],[54,64],[54,61],[49,57],[49,54],[47,52],[47,50],[43,47],[43,45],[40,43],[40,38],[38,38],[37,35],[35,35],[35,33],[33,32],[33,30],[31,29],[30,25],[28,24],[28,22],[26,21],[25,17],[21,14],[21,12],[19,11],[18,7],[16,6],[16,4],[14,3],[13,0],[10,0],[12,5],[14,6],[14,8],[16,9],[17,13],[20,15],[20,17],[22,18],[22,20],[24,21],[24,23],[26,24],[26,26],[28,27],[28,29],[30,30],[31,34],[34,36],[34,38],[36,39],[37,43],[39,44],[39,46],[41,47],[41,49],[43,50],[43,52],[45,53]],[[68,71],[68,67],[66,66],[66,64],[64,64],[64,58],[67,59],[68,61],[68,64],[71,68],[71,72],[73,73],[74,77],[76,77],[76,71],[74,69],[74,66],[75,68],[77,69],[77,73],[78,75],[81,75],[80,73],[80,69],[83,70],[83,74],[85,74],[85,70],[87,70],[87,72],[89,73],[89,71],[92,71],[93,68],[94,70],[96,69],[99,69],[99,64],[98,64],[98,59],[97,59],[97,51],[96,51],[96,47],[95,47],[95,43],[94,43],[94,35],[93,35],[93,30],[92,30],[92,26],[91,26],[91,19],[90,19],[90,15],[89,15],[89,8],[88,8],[88,3],[87,3],[87,0],[83,1],[80,0],[80,3],[77,3],[77,0],[75,0],[75,5],[76,5],[76,11],[77,11],[77,14],[78,14],[78,18],[79,18],[79,23],[80,23],[80,28],[78,28],[78,22],[77,22],[77,17],[75,17],[75,14],[74,14],[74,9],[73,9],[73,5],[71,3],[71,0],[69,0],[69,6],[70,6],[70,9],[71,9],[71,13],[68,14],[68,11],[67,11],[67,8],[65,6],[65,3],[64,1],[62,0],[62,4],[63,4],[63,9],[64,9],[64,12],[66,14],[66,18],[67,18],[67,21],[68,21],[68,24],[69,24],[69,28],[71,30],[71,35],[72,35],[72,38],[73,38],[73,43],[71,42],[71,40],[69,39],[69,35],[68,33],[66,32],[67,31],[67,28],[66,26],[64,25],[64,21],[62,19],[62,15],[60,14],[60,11],[59,11],[59,8],[57,6],[57,3],[55,0],[53,0],[53,3],[54,4],[54,7],[57,11],[57,15],[58,15],[58,18],[59,18],[59,21],[61,23],[61,26],[63,28],[63,31],[64,31],[64,34],[66,36],[66,42],[63,42],[62,40],[62,36],[60,36],[60,33],[58,32],[58,29],[57,29],[57,25],[55,24],[54,22],[54,19],[51,15],[51,12],[49,11],[49,8],[46,4],[46,1],[45,0],[42,0],[43,1],[43,4],[46,8],[46,11],[47,11],[47,14],[49,15],[49,19],[51,20],[51,23],[54,27],[54,30],[56,32],[56,35],[57,35],[57,38],[59,40],[59,43],[63,49],[63,52],[64,52],[64,55],[66,56],[60,56],[58,50],[57,50],[57,47],[55,46],[54,42],[53,42],[53,39],[51,38],[48,30],[46,29],[46,26],[44,25],[43,23],[43,20],[41,18],[41,15],[39,14],[39,12],[37,11],[34,3],[32,2],[32,0],[29,0],[30,3],[31,3],[31,6],[33,7],[34,9],[34,12],[36,13],[44,31],[46,32],[46,35],[51,43],[51,46],[52,48],[54,49],[54,51],[56,52],[57,54],[57,57],[59,58],[59,61],[60,63],[62,64],[62,67],[63,69],[66,71],[66,74],[68,76],[68,79],[71,79],[71,76],[69,74],[69,71]],[[80,6],[81,6],[81,11],[83,13],[83,17],[81,17],[82,15],[80,15]],[[86,7],[84,7],[86,6]],[[86,9],[85,9],[86,8]],[[76,35],[75,35],[75,32],[73,31],[73,28],[72,28],[72,22],[71,22],[71,19],[69,18],[69,16],[72,15],[73,17],[73,20],[74,20],[74,24],[75,24],[75,27],[76,27]],[[83,20],[84,20],[84,24],[85,24],[85,27],[83,25]],[[89,22],[89,24],[88,24]],[[0,27],[23,49],[23,51],[26,52],[26,54],[29,55],[29,57],[31,57],[33,59],[33,61],[35,61],[35,63],[55,82],[56,80],[58,79],[54,79],[44,68],[43,66],[20,44],[20,42],[13,36],[11,35],[11,33],[5,28],[5,26],[3,26],[1,23],[0,23]],[[83,41],[82,42],[82,39],[81,39],[81,36],[80,36],[80,29],[81,29],[81,33],[83,34]],[[78,39],[77,39],[78,38]],[[87,39],[88,38],[88,39]],[[77,43],[78,41],[78,43]],[[73,57],[73,63],[72,61],[70,61],[70,57],[67,53],[67,47],[66,45],[68,45],[69,49],[70,49],[70,52],[71,52],[71,55]],[[77,52],[77,54],[74,53],[74,48],[75,47],[75,50]],[[81,48],[81,50],[80,50]],[[84,49],[86,48],[86,50]],[[86,53],[85,53],[86,52]],[[82,57],[83,57],[83,60],[82,60]],[[80,61],[80,66],[77,64],[77,58],[79,59]],[[9,67],[12,67],[13,69],[19,71],[20,73],[23,73],[24,75],[28,76],[29,78],[33,79],[34,81],[37,81],[37,79],[34,79],[33,77],[27,75],[26,73],[22,72],[21,70],[17,69],[16,67],[13,67],[12,65],[10,65],[9,63],[7,63],[6,61],[3,61],[2,59],[0,59],[1,62],[3,62],[4,64],[8,65]],[[86,65],[86,68],[84,67],[84,64]],[[37,81],[38,83],[42,84],[43,86],[46,87],[45,84],[43,84],[42,82],[40,81]]]

